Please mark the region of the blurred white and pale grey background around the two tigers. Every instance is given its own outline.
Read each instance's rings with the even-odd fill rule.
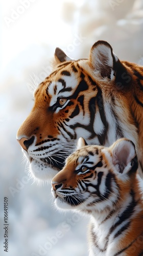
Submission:
[[[142,0],[1,0],[0,254],[87,256],[88,220],[53,207],[51,185],[33,184],[16,132],[33,105],[30,86],[50,72],[58,46],[88,57],[107,40],[124,60],[143,65]],[[76,38],[76,39],[75,39]],[[9,200],[9,251],[4,252],[4,197]]]

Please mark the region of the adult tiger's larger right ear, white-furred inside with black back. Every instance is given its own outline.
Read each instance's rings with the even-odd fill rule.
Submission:
[[[90,50],[89,63],[94,72],[99,71],[103,78],[115,79],[120,90],[131,81],[131,75],[123,63],[113,53],[106,41],[97,41]]]

